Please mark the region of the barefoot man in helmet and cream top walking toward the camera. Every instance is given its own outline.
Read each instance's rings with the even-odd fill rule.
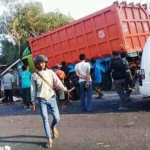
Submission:
[[[52,138],[58,137],[56,125],[60,120],[54,87],[57,86],[60,90],[65,92],[70,91],[67,90],[67,88],[51,69],[47,69],[47,62],[48,59],[44,55],[38,55],[34,58],[37,71],[33,73],[31,77],[31,101],[34,110],[36,108],[36,99],[39,102],[43,125],[48,140],[46,147],[51,148]],[[50,108],[53,116],[51,128],[48,121],[48,108]]]

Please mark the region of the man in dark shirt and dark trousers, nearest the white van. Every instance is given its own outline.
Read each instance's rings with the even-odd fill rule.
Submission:
[[[112,52],[112,62],[110,65],[110,71],[112,72],[112,78],[114,80],[115,89],[122,102],[119,109],[127,109],[124,94],[126,69],[125,65],[123,64],[123,61],[121,60],[121,58],[119,58],[119,53],[116,51]]]

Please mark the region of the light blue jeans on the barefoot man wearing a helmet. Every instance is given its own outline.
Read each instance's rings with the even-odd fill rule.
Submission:
[[[56,98],[54,97],[49,100],[44,100],[44,99],[38,98],[38,100],[39,100],[39,106],[40,106],[40,111],[41,111],[41,116],[42,116],[42,120],[43,120],[46,137],[48,139],[51,139],[52,138],[51,128],[56,127],[56,125],[58,124],[58,122],[60,120],[60,115],[59,115]],[[51,128],[50,128],[49,119],[48,119],[48,108],[51,110],[51,113],[53,116]]]

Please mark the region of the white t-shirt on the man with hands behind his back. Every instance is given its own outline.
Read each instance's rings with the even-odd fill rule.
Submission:
[[[75,71],[78,71],[80,75],[87,76],[87,70],[90,70],[90,64],[88,62],[79,62],[75,65]],[[86,81],[86,79],[79,78],[79,82]],[[90,77],[91,81],[91,77]]]

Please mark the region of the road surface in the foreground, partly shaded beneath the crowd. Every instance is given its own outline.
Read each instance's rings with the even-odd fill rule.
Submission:
[[[60,136],[54,150],[150,150],[150,99],[139,94],[128,110],[118,110],[115,92],[93,99],[94,111],[79,110],[80,101],[60,110]],[[51,117],[50,117],[51,120]],[[12,150],[44,150],[45,141],[39,110],[24,110],[21,103],[0,104],[0,146]]]

